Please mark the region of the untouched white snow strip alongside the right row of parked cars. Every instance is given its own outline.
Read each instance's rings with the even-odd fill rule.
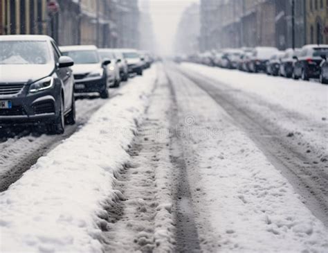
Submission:
[[[266,101],[298,112],[313,121],[328,120],[328,86],[319,82],[292,80],[264,73],[246,73],[199,64],[183,63],[185,69],[210,76],[230,87],[249,91]]]

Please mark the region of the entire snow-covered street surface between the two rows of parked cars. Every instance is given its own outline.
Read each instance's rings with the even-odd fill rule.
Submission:
[[[79,100],[0,143],[0,251],[328,252],[327,88],[158,62]]]

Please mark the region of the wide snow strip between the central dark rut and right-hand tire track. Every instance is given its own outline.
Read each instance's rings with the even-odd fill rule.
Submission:
[[[327,252],[327,228],[255,143],[197,85],[172,80],[202,250]]]

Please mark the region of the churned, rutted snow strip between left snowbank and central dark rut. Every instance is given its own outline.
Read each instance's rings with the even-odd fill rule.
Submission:
[[[125,201],[110,207],[122,216],[107,224],[106,252],[172,252],[174,247],[170,101],[163,99],[170,91],[164,75],[158,73],[147,114],[129,150],[131,160],[118,175],[116,189]]]

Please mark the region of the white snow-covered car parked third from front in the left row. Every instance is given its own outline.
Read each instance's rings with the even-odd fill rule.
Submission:
[[[98,49],[98,53],[102,60],[111,60],[111,63],[106,68],[109,87],[120,87],[120,67],[118,66],[120,60],[116,60],[116,56],[110,49]]]

